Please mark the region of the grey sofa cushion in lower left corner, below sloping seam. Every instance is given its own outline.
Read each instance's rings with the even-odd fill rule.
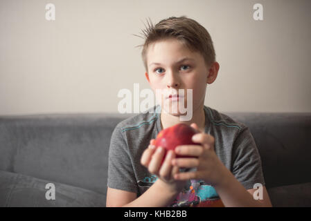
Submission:
[[[55,185],[55,200],[46,200],[46,184]],[[106,195],[87,189],[0,171],[0,206],[105,206]]]

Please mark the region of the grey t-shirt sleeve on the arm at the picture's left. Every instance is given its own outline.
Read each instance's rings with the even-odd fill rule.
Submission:
[[[107,186],[137,193],[136,179],[127,142],[118,126],[114,128],[110,140]]]

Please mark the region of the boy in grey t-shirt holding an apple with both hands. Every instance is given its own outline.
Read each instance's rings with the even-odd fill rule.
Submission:
[[[143,30],[145,77],[151,88],[169,93],[154,106],[119,123],[109,149],[107,206],[271,206],[260,155],[249,128],[204,106],[206,84],[217,77],[213,42],[207,30],[187,17],[163,19]],[[172,112],[185,92],[192,99],[192,118],[181,121]],[[193,126],[193,142],[168,151],[155,148],[159,131],[175,124]],[[149,145],[149,146],[148,146]],[[148,147],[147,147],[148,146]],[[175,155],[192,157],[175,158]],[[181,170],[183,168],[184,170]],[[186,170],[185,170],[186,168]],[[254,184],[263,185],[263,198],[254,200]],[[214,202],[217,202],[216,204]]]

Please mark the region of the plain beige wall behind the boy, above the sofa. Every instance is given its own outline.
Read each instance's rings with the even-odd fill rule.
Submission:
[[[55,21],[45,19],[55,4]],[[253,6],[263,4],[263,21]],[[0,115],[117,112],[118,91],[150,88],[142,39],[186,15],[210,32],[220,72],[205,104],[218,111],[311,111],[311,1],[0,1]]]

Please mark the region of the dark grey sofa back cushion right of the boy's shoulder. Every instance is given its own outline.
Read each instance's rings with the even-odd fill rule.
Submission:
[[[311,182],[310,113],[229,113],[246,124],[263,164],[267,189]]]

